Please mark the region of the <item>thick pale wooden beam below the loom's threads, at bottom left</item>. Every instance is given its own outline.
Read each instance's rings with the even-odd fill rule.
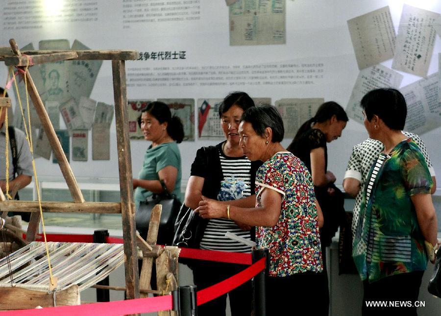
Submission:
[[[23,288],[0,288],[0,310],[24,310],[41,307],[79,305],[80,294],[78,286],[73,285],[66,290],[53,293],[27,290]]]

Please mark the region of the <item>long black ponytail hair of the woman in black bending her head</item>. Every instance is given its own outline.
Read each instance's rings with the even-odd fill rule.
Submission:
[[[334,115],[336,116],[338,121],[347,122],[349,120],[343,107],[337,102],[328,101],[320,105],[317,109],[316,115],[314,117],[311,117],[309,120],[303,123],[302,126],[300,126],[294,136],[293,141],[288,146],[288,150],[291,151],[291,149],[294,149],[294,143],[296,143],[300,139],[301,135],[303,135],[304,132],[307,132],[311,129],[311,125],[313,125],[313,123],[323,123],[331,119]]]

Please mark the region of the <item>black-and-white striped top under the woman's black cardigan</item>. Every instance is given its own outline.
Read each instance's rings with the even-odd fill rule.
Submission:
[[[249,196],[251,194],[251,161],[245,156],[226,157],[221,151],[219,152],[219,156],[221,159],[223,181],[243,181],[246,184],[246,188],[242,192],[242,197]],[[221,197],[222,194],[219,194],[218,200],[221,200]],[[243,231],[234,221],[224,218],[212,218],[208,221],[204,236],[200,241],[200,248],[231,252],[251,252],[249,246],[225,237],[226,232],[251,239],[250,232]]]

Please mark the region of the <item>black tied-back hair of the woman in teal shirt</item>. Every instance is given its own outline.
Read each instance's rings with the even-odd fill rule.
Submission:
[[[179,144],[182,142],[184,139],[184,126],[179,117],[176,115],[172,116],[172,112],[168,105],[160,101],[153,101],[141,111],[141,115],[143,115],[144,112],[154,116],[160,124],[167,122],[167,133],[174,141],[176,141],[176,143]],[[141,127],[141,115],[138,116],[139,127]]]

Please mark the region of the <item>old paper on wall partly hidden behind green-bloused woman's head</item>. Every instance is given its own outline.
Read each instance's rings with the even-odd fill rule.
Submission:
[[[381,64],[360,71],[346,106],[347,116],[363,124],[364,117],[360,107],[363,96],[372,89],[398,88],[402,79],[403,75]]]

